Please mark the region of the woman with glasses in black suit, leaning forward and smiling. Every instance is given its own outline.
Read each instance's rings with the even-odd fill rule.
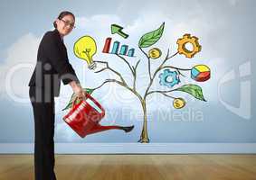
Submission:
[[[54,96],[60,94],[61,80],[71,85],[79,98],[85,98],[80,81],[69,63],[63,37],[74,28],[75,16],[62,12],[54,31],[47,31],[37,52],[37,62],[29,82],[34,117],[34,173],[36,180],[55,180]]]

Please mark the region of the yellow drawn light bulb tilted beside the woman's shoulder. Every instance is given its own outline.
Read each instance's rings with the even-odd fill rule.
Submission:
[[[96,68],[96,63],[93,62],[92,57],[97,52],[97,45],[93,38],[82,36],[75,42],[73,50],[76,57],[86,60],[90,69]]]

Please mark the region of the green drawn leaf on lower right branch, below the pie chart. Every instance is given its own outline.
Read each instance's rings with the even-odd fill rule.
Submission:
[[[174,89],[174,91],[182,91],[187,94],[193,95],[196,99],[199,99],[201,101],[206,101],[204,99],[202,88],[199,85],[192,85],[192,84],[183,85],[181,87]]]

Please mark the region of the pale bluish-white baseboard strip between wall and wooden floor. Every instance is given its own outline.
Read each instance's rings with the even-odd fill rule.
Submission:
[[[32,154],[33,143],[0,143],[0,154]],[[55,143],[56,154],[255,154],[256,143]]]

